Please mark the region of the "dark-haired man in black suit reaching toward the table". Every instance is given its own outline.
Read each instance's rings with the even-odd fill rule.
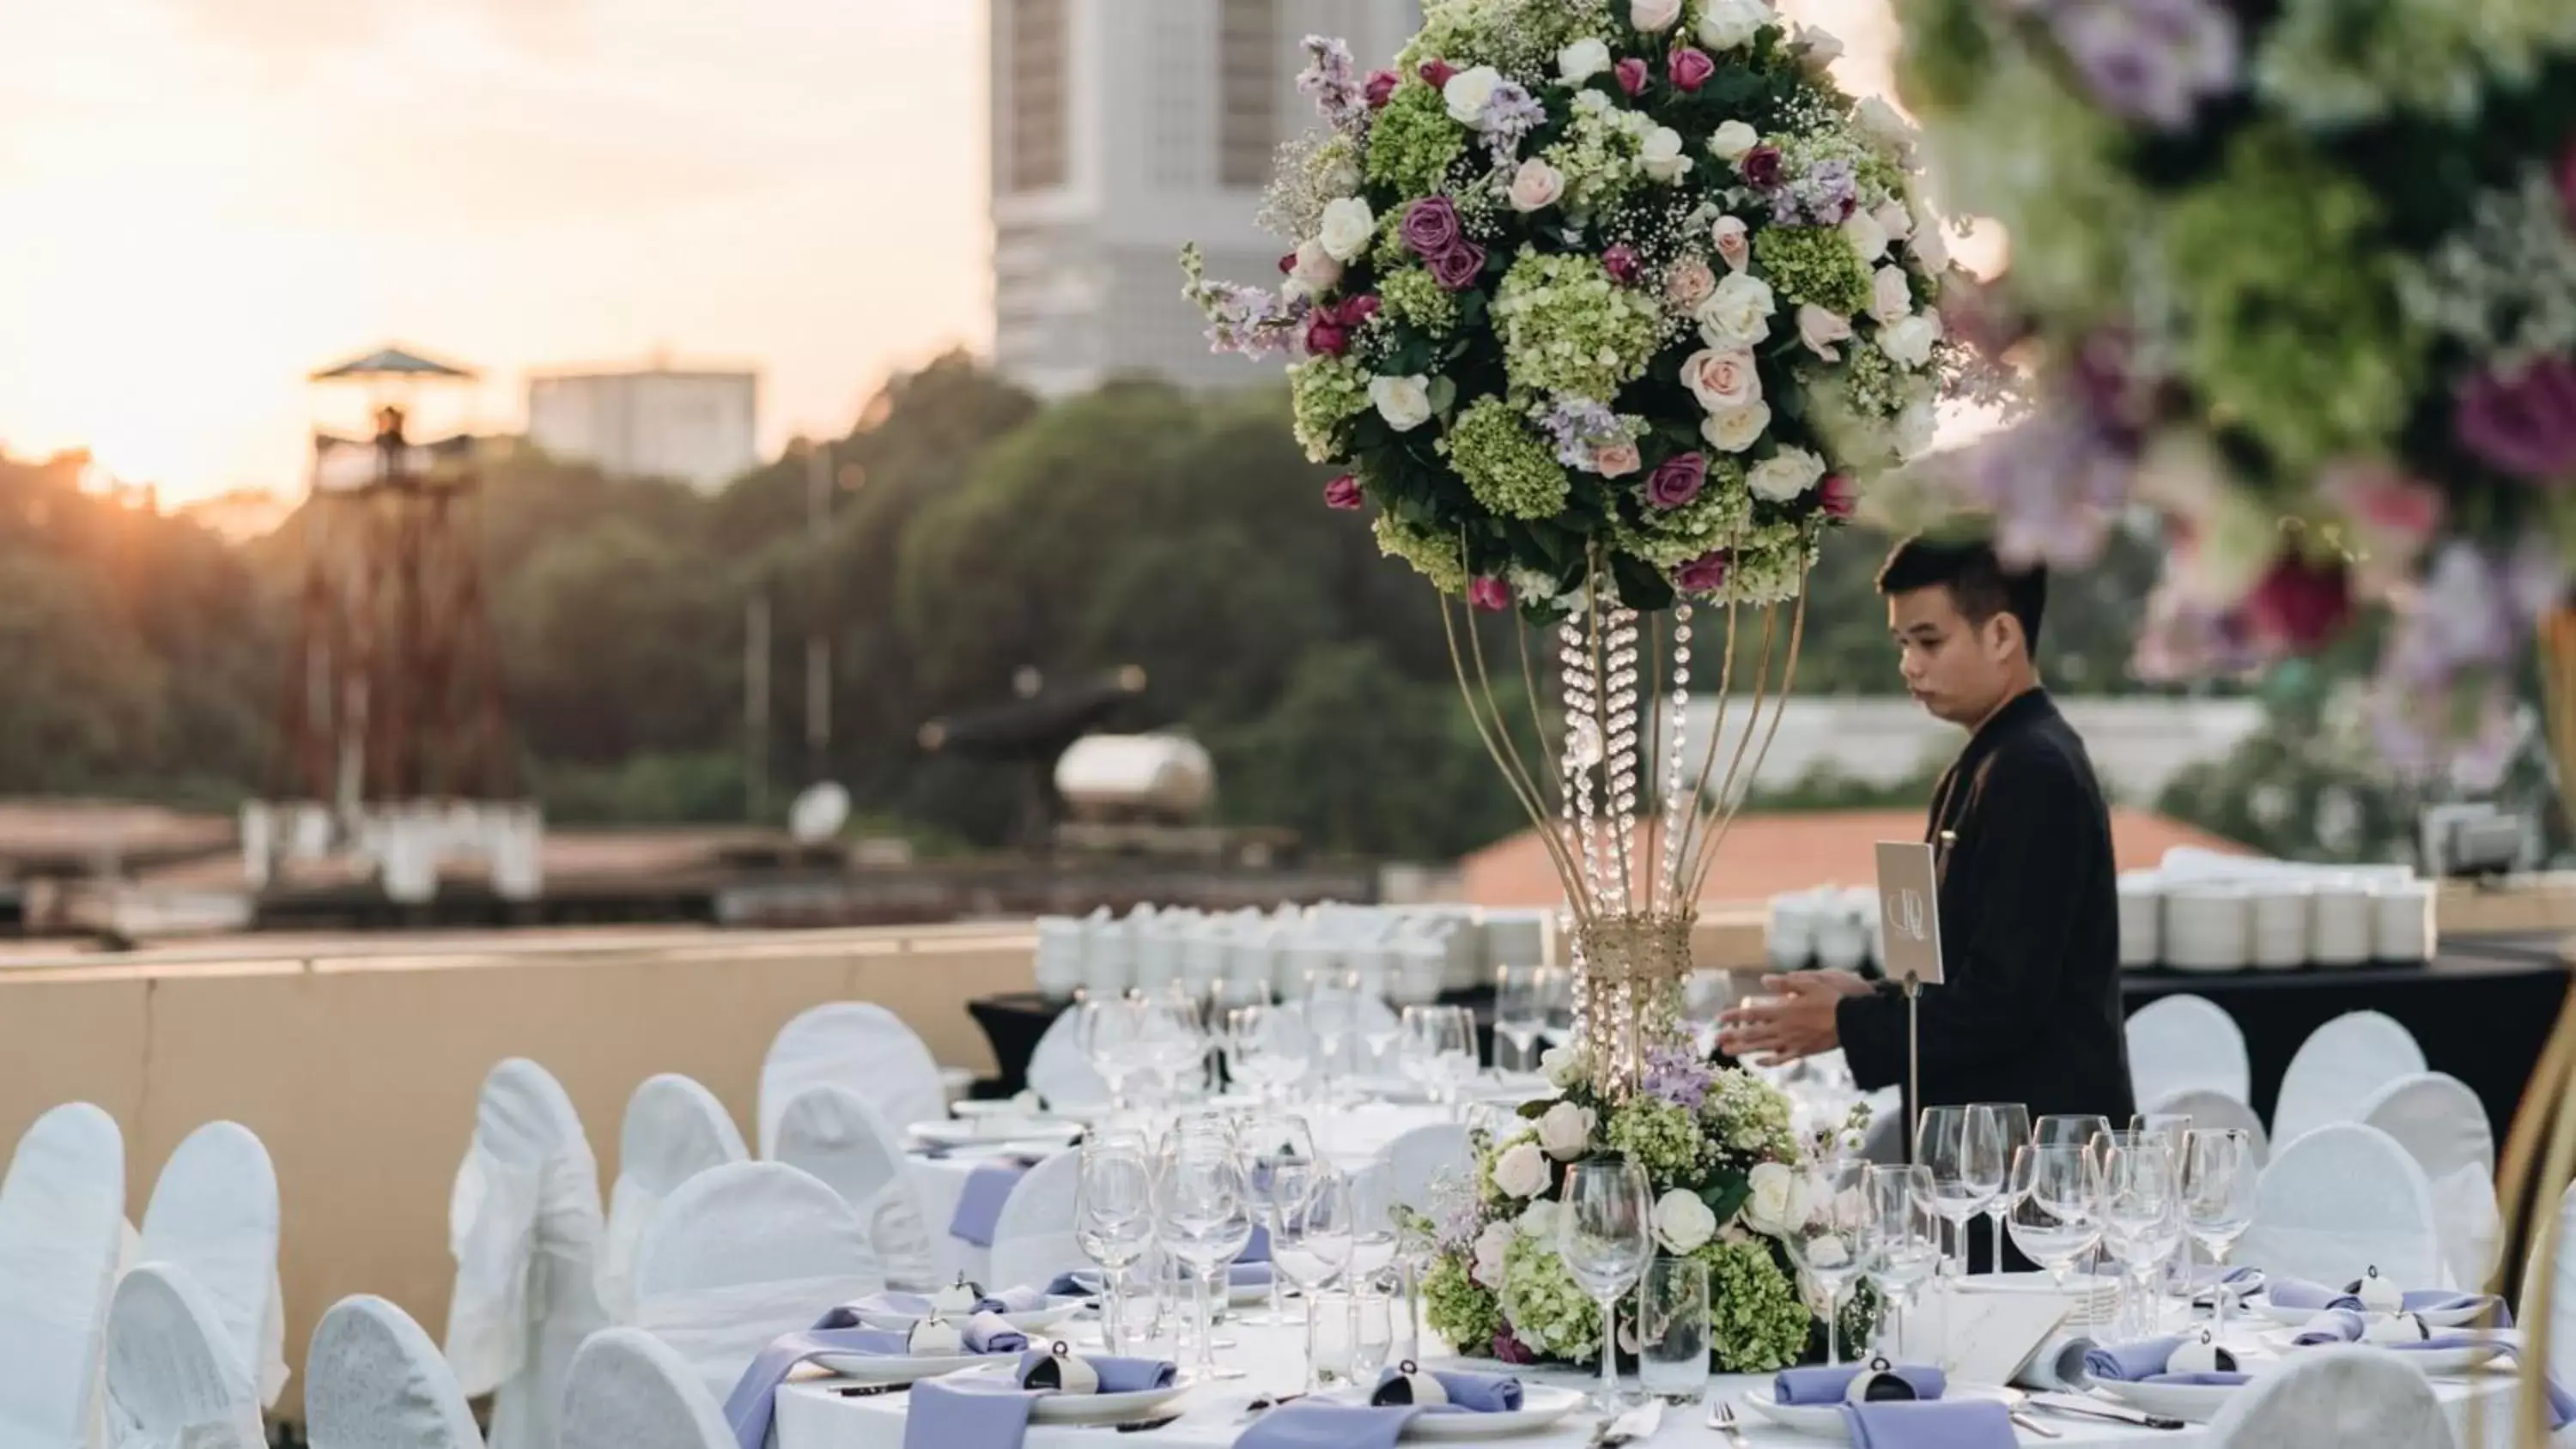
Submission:
[[[1929,1107],[2022,1102],[2032,1120],[2136,1104],[2120,1009],[2110,811],[2084,741],[2030,661],[2048,577],[1986,543],[1906,540],[1878,574],[1906,692],[1968,744],[1932,793],[1942,986],[1922,988]],[[1842,1048],[1862,1089],[1906,1081],[1906,1001],[1842,970],[1762,981],[1721,1048],[1788,1060]],[[1906,1122],[1914,1122],[1909,1104]]]

